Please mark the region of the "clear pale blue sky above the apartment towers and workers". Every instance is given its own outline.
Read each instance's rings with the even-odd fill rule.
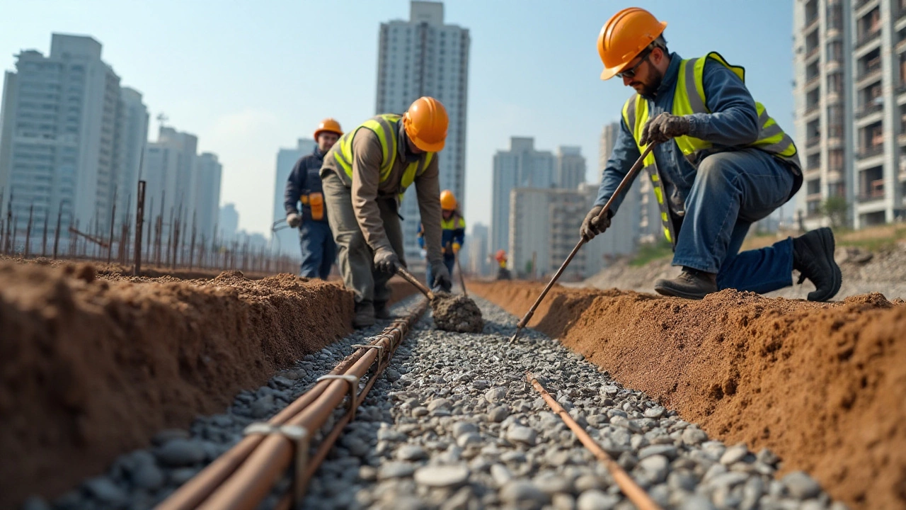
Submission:
[[[409,18],[408,0],[2,0],[0,64],[50,51],[51,33],[87,34],[122,84],[198,135],[224,164],[221,203],[240,227],[269,230],[276,153],[323,117],[346,129],[374,114],[378,29]],[[467,220],[490,220],[494,153],[511,136],[581,145],[597,179],[598,138],[631,92],[599,79],[603,23],[633,4],[591,0],[449,0],[445,21],[469,29]],[[641,1],[683,57],[718,51],[747,68],[756,99],[793,131],[792,0]]]

